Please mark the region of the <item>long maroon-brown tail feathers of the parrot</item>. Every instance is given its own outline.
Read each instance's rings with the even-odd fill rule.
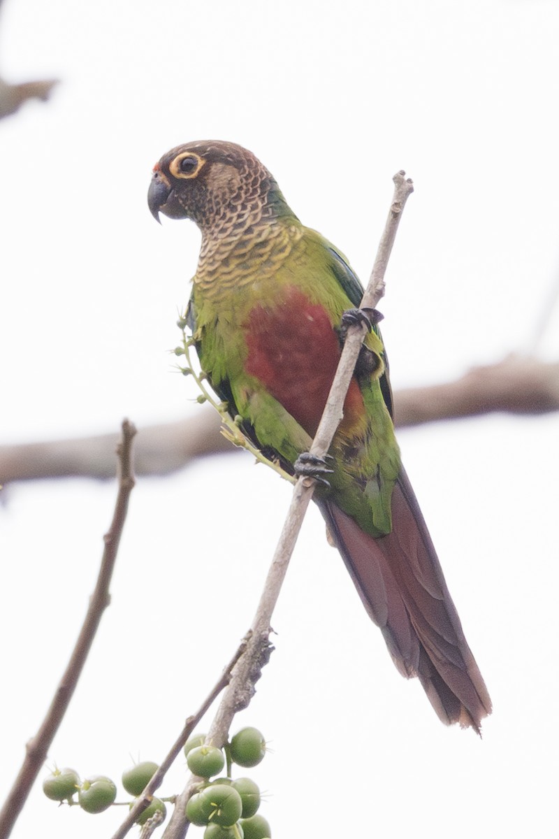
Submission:
[[[392,494],[392,532],[380,539],[364,533],[333,502],[319,506],[398,670],[407,678],[419,676],[443,722],[479,733],[491,700],[406,472]]]

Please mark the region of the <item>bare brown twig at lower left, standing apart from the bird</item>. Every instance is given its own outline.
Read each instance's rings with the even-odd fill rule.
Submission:
[[[50,744],[54,735],[60,727],[65,712],[70,704],[70,699],[75,686],[84,668],[85,660],[91,649],[93,638],[101,623],[101,616],[110,602],[109,585],[111,583],[112,571],[115,566],[116,553],[122,535],[122,529],[127,516],[128,500],[134,478],[132,473],[132,439],[136,429],[128,420],[122,423],[122,440],[117,447],[118,464],[118,493],[116,496],[115,512],[113,514],[111,528],[104,536],[105,549],[101,559],[101,568],[97,576],[95,591],[90,600],[87,614],[75,643],[75,648],[70,656],[60,683],[54,693],[49,711],[37,734],[29,740],[25,748],[25,758],[15,779],[8,798],[0,811],[0,839],[7,839],[13,825],[23,808],[28,797],[29,790],[34,784],[39,771],[44,763]]]

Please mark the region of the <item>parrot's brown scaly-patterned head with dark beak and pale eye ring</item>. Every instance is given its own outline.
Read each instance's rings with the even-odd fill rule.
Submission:
[[[153,167],[148,206],[156,221],[189,218],[203,232],[242,232],[262,218],[291,215],[276,181],[247,149],[201,140],[171,149]]]

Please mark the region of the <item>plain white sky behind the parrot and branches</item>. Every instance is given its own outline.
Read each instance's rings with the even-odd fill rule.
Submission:
[[[190,139],[246,145],[364,278],[404,168],[416,184],[387,276],[392,380],[524,352],[559,269],[559,4],[5,0],[13,81],[59,76],[0,123],[3,440],[171,420],[199,407],[168,349],[199,234],[149,215],[153,163]],[[559,355],[557,315],[541,355]],[[550,836],[556,823],[556,416],[400,435],[494,700],[447,729],[396,673],[318,513],[239,719],[274,836]],[[289,487],[250,458],[138,482],[112,603],[51,763],[120,774],[163,757],[251,622]],[[0,796],[85,611],[115,487],[8,487]],[[184,763],[162,792],[184,784]],[[295,790],[297,790],[295,792]],[[122,795],[119,796],[122,800]],[[110,836],[122,817],[34,790],[13,836]],[[197,831],[193,836],[201,836]]]

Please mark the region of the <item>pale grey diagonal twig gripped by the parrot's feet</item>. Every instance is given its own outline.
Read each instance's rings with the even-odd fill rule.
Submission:
[[[404,175],[404,172],[398,172],[394,176],[395,192],[391,204],[391,211],[380,239],[370,282],[361,301],[362,306],[370,309],[375,308],[375,305],[384,294],[386,263],[388,262],[396,237],[401,211],[408,196],[413,191],[411,180],[405,180]],[[323,412],[322,420],[320,420],[320,425],[318,425],[318,430],[311,446],[310,451],[313,455],[321,457],[329,450],[339,421],[343,416],[345,394],[347,393],[350,379],[355,370],[355,362],[359,356],[365,332],[366,328],[362,325],[349,327],[347,337],[344,341],[344,350],[339,360],[338,370],[334,377],[332,388],[330,388],[329,398]],[[262,659],[266,657],[267,649],[269,649],[268,636],[271,632],[270,623],[272,612],[279,597],[282,582],[287,572],[287,565],[291,559],[299,530],[303,524],[305,512],[313,496],[314,485],[313,478],[300,477],[293,489],[287,519],[283,525],[272,565],[268,571],[261,601],[258,604],[256,615],[252,622],[251,637],[247,644],[246,653],[241,656],[241,659],[239,659],[233,670],[230,685],[225,690],[214,722],[210,727],[208,740],[215,746],[220,747],[225,743],[233,717],[237,711],[248,705],[254,692],[254,683],[260,675]],[[197,784],[199,784],[199,779],[192,776],[187,782],[184,791],[178,796],[173,816],[171,816],[168,826],[163,833],[163,839],[184,839],[189,826],[189,822],[184,815],[184,808]]]

